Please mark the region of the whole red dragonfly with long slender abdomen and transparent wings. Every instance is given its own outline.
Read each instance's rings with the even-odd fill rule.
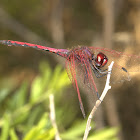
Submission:
[[[97,94],[97,97],[99,97],[98,90],[95,84],[95,78],[103,77],[108,73],[106,67],[107,64],[110,64],[111,61],[115,62],[115,68],[112,71],[112,73],[116,75],[115,80],[120,79],[120,77],[121,79],[130,80],[128,70],[130,70],[130,72],[139,71],[140,56],[126,55],[122,52],[117,52],[115,50],[110,50],[107,48],[78,46],[73,49],[55,49],[46,46],[12,40],[0,40],[0,43],[8,46],[31,47],[55,53],[61,57],[64,57],[66,59],[66,70],[74,87],[76,87],[80,103],[80,109],[84,117],[85,111],[77,82],[77,79],[79,77],[81,78],[80,81],[84,85],[88,86],[93,92]],[[127,61],[123,62],[120,60]],[[124,65],[128,68],[128,70],[126,69],[126,67],[123,67]]]

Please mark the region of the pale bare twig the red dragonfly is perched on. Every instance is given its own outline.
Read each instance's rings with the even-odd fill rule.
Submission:
[[[83,140],[87,140],[89,131],[91,130],[91,126],[90,126],[91,120],[92,120],[97,108],[100,106],[100,104],[104,100],[104,97],[106,96],[108,90],[111,89],[111,86],[109,85],[109,83],[110,83],[110,76],[111,76],[111,71],[112,71],[113,64],[114,64],[114,62],[112,61],[111,64],[108,66],[108,74],[107,74],[105,88],[104,88],[100,98],[96,101],[92,111],[90,112],[90,115],[89,115],[88,120],[87,120],[87,125],[86,125]]]

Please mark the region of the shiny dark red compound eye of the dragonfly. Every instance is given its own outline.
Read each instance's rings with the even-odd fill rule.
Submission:
[[[106,55],[104,55],[103,53],[98,53],[95,59],[95,65],[97,67],[103,67],[106,65],[107,61],[108,61],[108,58],[106,57]]]

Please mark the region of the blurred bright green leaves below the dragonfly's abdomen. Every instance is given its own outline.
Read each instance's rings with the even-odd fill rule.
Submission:
[[[5,83],[5,80],[0,81],[0,140],[54,139],[55,128],[49,117],[50,94],[55,95],[55,113],[61,138],[64,140],[82,139],[86,120],[74,119],[76,112],[72,111],[73,106],[66,107],[60,103],[62,90],[70,85],[70,81],[65,70],[62,70],[59,65],[52,71],[48,64],[41,63],[40,75],[36,76],[31,84],[24,81],[17,89],[11,86],[13,80],[9,84]],[[117,140],[117,131],[117,128],[95,131],[89,140]]]

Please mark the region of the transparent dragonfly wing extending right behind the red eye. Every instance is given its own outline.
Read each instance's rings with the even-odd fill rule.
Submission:
[[[114,61],[112,70],[112,83],[123,82],[125,80],[130,81],[130,76],[138,74],[140,72],[140,56],[129,55],[115,50],[99,47],[89,47],[94,52],[95,56],[102,52],[108,58],[108,63],[103,69],[107,69],[107,66]]]

